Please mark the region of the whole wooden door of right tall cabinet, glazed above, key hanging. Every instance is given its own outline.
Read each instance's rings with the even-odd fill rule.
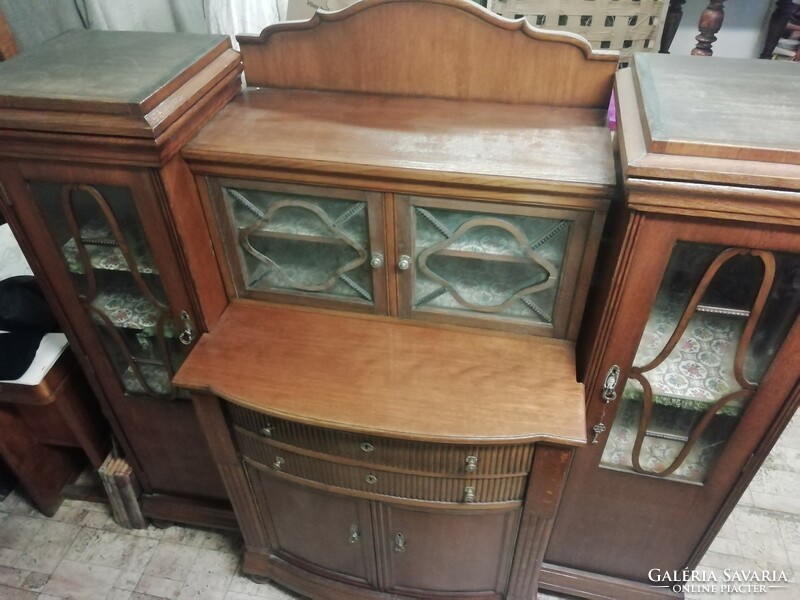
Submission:
[[[800,253],[778,228],[638,227],[588,336],[589,444],[545,560],[648,583],[697,564],[796,393]]]

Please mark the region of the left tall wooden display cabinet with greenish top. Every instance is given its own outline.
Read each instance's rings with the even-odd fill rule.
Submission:
[[[96,31],[0,65],[3,209],[141,482],[145,514],[206,525],[234,522],[171,379],[226,298],[177,152],[239,91],[240,72],[220,36]]]

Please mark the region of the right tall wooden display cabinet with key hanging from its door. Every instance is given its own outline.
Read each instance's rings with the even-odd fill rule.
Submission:
[[[648,572],[697,566],[796,410],[790,71],[637,55],[617,75],[627,202],[610,223],[611,260],[580,342],[593,442],[571,470],[548,589],[666,593]],[[713,111],[693,103],[700,96]]]

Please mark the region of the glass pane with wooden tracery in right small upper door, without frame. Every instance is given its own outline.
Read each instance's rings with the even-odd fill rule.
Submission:
[[[570,221],[412,210],[415,310],[552,325]]]

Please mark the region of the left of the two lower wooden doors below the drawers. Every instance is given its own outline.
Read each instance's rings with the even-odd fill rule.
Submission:
[[[354,585],[375,587],[368,500],[309,489],[249,468],[273,553]]]

